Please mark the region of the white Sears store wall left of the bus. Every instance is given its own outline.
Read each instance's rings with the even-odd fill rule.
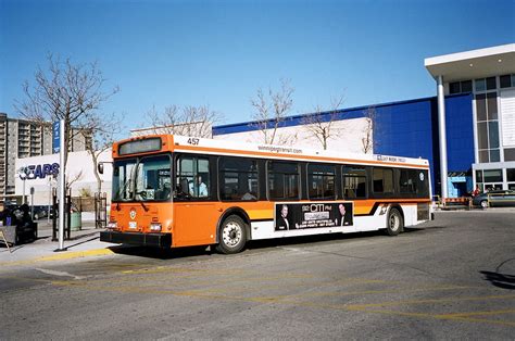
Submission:
[[[112,162],[111,149],[102,152],[99,155],[99,161]],[[29,165],[43,165],[53,163],[59,164],[59,154],[16,159],[16,169]],[[100,175],[100,177],[102,179],[102,191],[108,192],[108,201],[110,201],[111,198],[112,174],[112,164],[104,164],[104,173],[103,175]],[[71,179],[77,178],[77,180],[72,185],[72,197],[78,197],[79,191],[83,188],[89,189],[91,195],[97,191],[97,178],[93,174],[93,163],[88,152],[72,152],[68,154],[68,161],[66,165],[66,178],[68,181]],[[24,181],[20,178],[20,176],[16,175],[16,195],[23,195],[23,182]],[[50,200],[50,188],[56,187],[56,179],[52,179],[51,176],[46,176],[45,178],[30,178],[29,176],[25,180],[25,195],[29,195],[30,187],[34,187],[35,190],[34,204],[48,205]],[[28,202],[30,202],[30,197],[28,197]]]

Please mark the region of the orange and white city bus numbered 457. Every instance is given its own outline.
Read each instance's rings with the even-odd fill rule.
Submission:
[[[229,254],[252,240],[397,236],[432,217],[423,159],[174,135],[115,142],[112,153],[105,242]]]

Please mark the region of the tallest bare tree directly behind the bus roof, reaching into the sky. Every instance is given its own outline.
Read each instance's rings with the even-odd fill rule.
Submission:
[[[293,92],[290,80],[280,79],[279,90],[268,88],[265,93],[263,89],[258,89],[256,98],[251,99],[255,122],[250,125],[262,132],[264,143],[290,144],[297,139],[297,135],[281,135],[277,131],[293,105]]]

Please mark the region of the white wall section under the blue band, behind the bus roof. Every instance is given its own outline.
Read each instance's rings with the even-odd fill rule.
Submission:
[[[331,125],[335,137],[329,139],[327,149],[334,151],[363,153],[362,139],[366,135],[367,121],[365,117],[335,121]],[[261,130],[215,135],[217,140],[234,140],[251,143],[263,143]],[[299,148],[323,149],[322,143],[313,137],[305,126],[278,128],[274,144],[282,144],[279,141],[287,140],[289,146]],[[369,152],[372,153],[372,151]]]

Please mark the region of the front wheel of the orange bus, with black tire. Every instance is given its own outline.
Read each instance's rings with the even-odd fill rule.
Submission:
[[[216,251],[224,254],[238,253],[247,243],[247,224],[237,215],[229,215],[219,226]]]

